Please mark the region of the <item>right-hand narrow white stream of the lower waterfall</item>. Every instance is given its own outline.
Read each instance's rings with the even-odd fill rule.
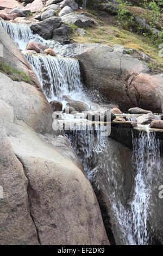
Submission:
[[[146,131],[133,133],[133,162],[136,169],[134,197],[131,201],[130,221],[133,223],[136,245],[147,245],[149,240],[147,220],[149,199],[154,190],[153,180],[160,170],[160,142],[155,133]]]

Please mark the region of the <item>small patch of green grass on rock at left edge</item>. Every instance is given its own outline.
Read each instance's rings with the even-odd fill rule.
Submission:
[[[13,69],[11,68],[11,66],[7,64],[0,63],[0,72],[9,76],[13,81],[18,81],[18,82],[24,81],[26,83],[33,84],[30,77],[27,76],[25,72]]]

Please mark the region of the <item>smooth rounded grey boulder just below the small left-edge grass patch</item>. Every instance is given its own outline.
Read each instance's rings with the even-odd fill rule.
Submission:
[[[52,131],[52,109],[45,96],[34,86],[14,82],[0,73],[0,99],[14,108],[18,120],[23,120],[35,131]]]

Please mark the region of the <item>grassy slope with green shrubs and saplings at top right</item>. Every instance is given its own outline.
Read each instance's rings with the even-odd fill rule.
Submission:
[[[80,1],[79,6],[82,5],[82,2]],[[126,0],[118,0],[119,5],[115,5],[113,8],[104,4],[104,1],[96,1],[96,7],[95,5],[91,7],[89,2],[91,3],[91,1],[87,1],[87,8],[84,11],[97,23],[84,29],[85,34],[77,33],[71,25],[69,37],[72,41],[109,46],[122,45],[128,54],[136,58],[140,58],[141,54],[139,53],[147,54],[149,56],[147,64],[152,71],[163,71],[162,57],[159,54],[162,48],[159,46],[163,43],[163,14],[160,5],[162,0],[134,0],[130,3]],[[143,27],[137,23],[135,17],[145,21],[150,26],[150,30],[149,27]],[[155,34],[155,29],[160,32]],[[130,51],[130,48],[136,51]]]

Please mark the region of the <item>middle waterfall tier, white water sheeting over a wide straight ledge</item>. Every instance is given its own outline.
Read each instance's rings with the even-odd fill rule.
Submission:
[[[83,95],[79,62],[76,59],[34,54],[24,55],[33,66],[47,99],[62,100],[63,95]]]

